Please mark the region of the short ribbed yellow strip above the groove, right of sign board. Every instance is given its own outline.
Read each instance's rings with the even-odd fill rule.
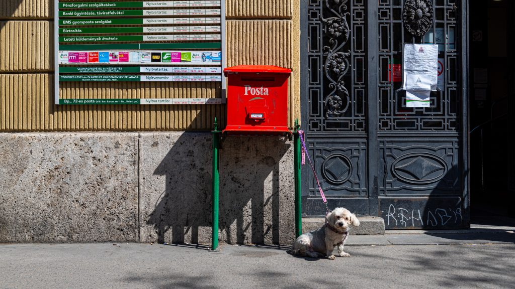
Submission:
[[[294,0],[227,0],[227,19],[291,19]]]

